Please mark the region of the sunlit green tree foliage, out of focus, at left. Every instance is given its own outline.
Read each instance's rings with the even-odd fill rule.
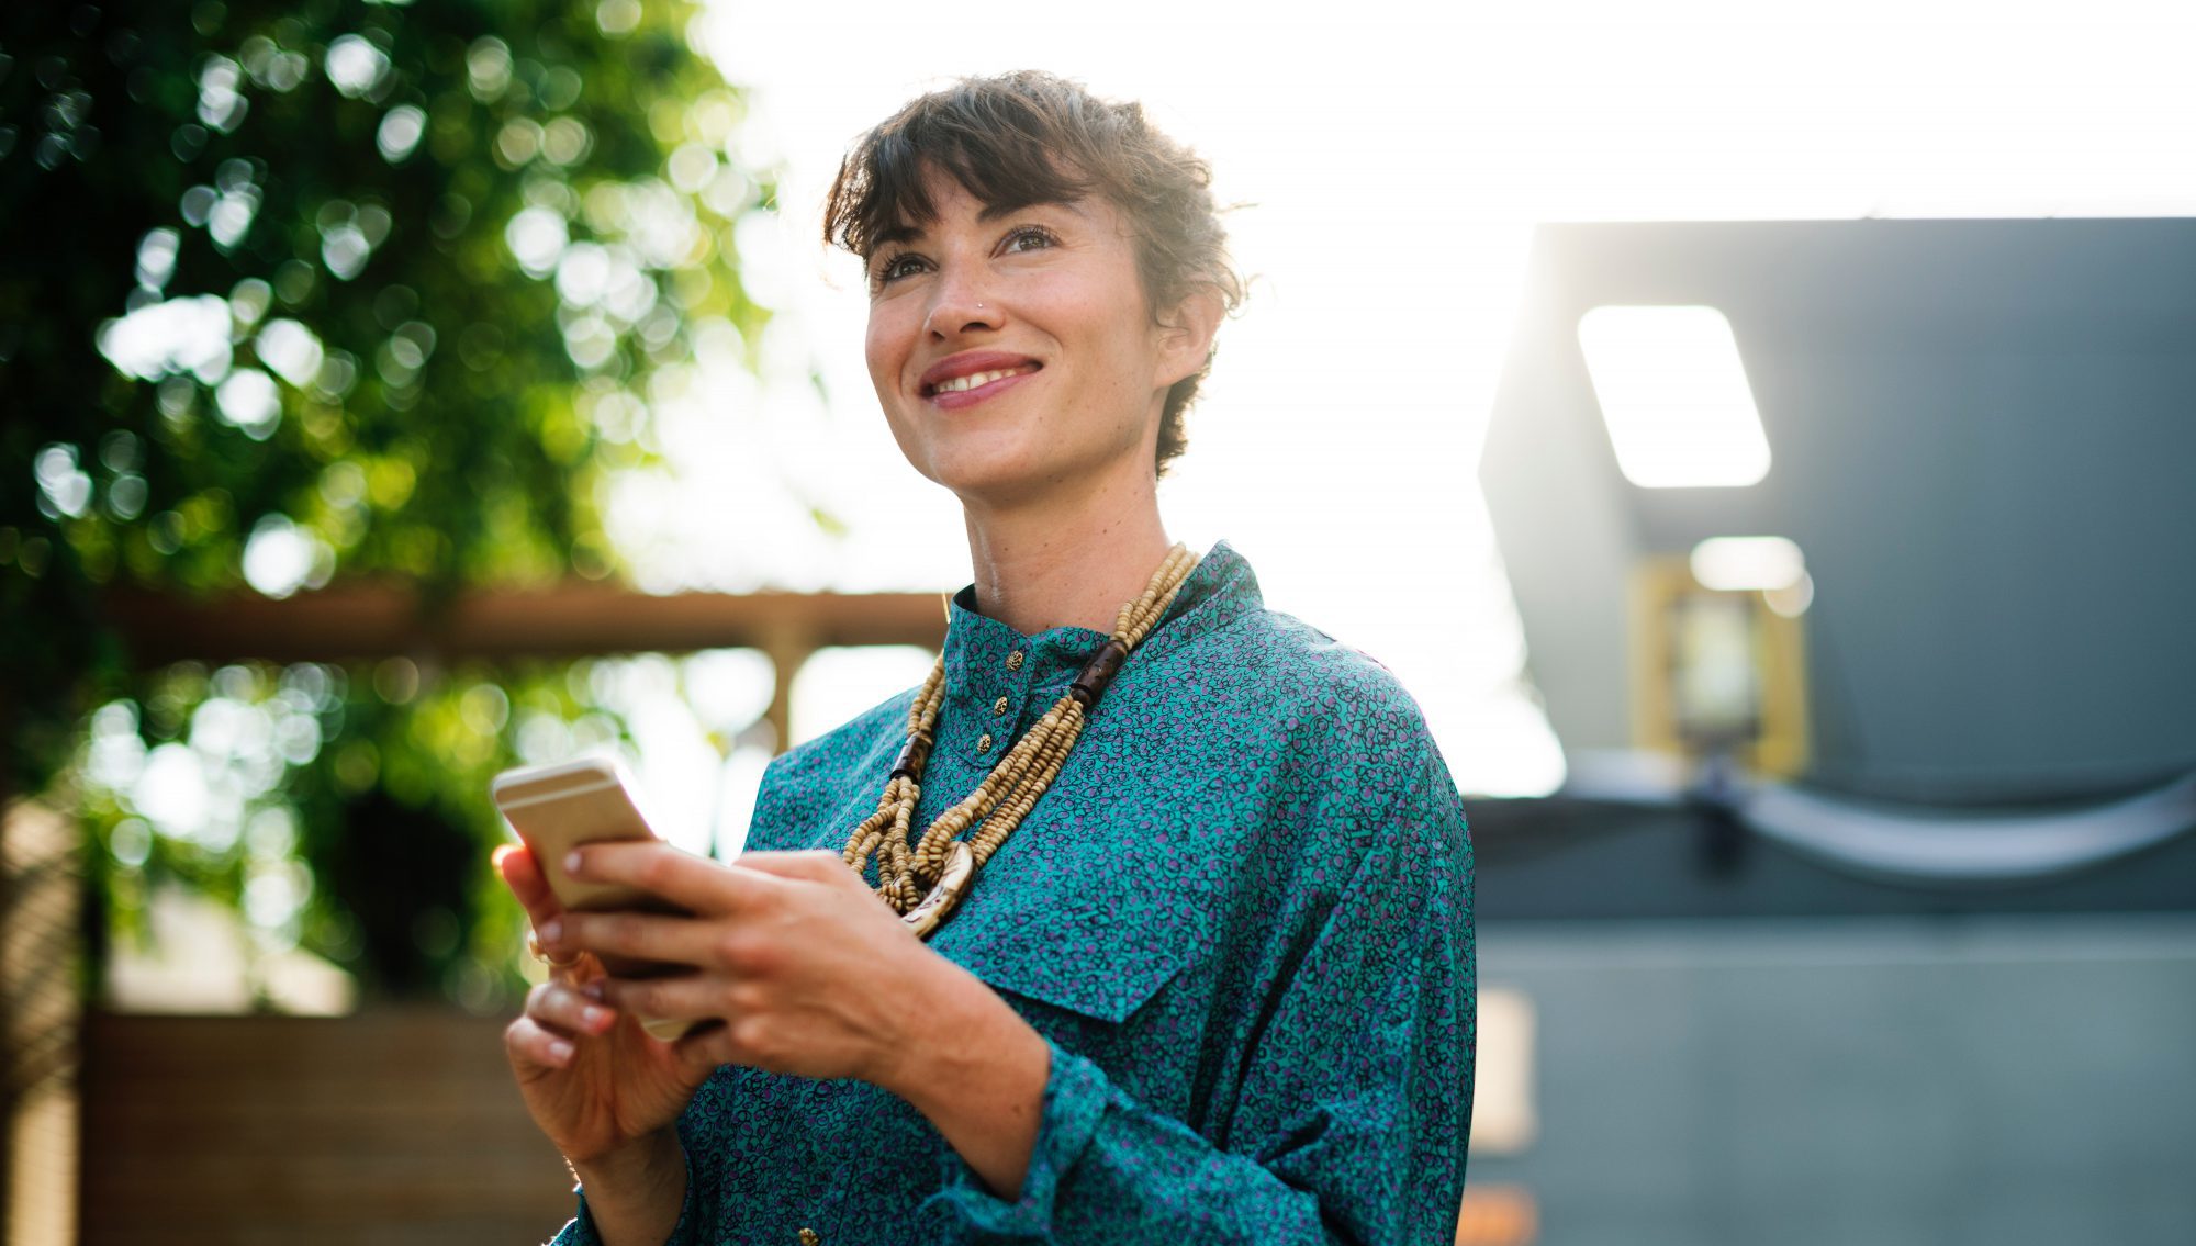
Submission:
[[[766,318],[731,237],[771,178],[733,158],[742,101],[690,48],[690,18],[670,0],[11,7],[9,788],[61,777],[101,842],[121,834],[101,856],[119,910],[145,871],[242,906],[299,862],[338,895],[323,886],[292,928],[360,956],[380,937],[365,910],[389,899],[373,888],[402,880],[345,827],[479,845],[514,706],[600,717],[547,667],[138,673],[101,605],[116,586],[402,577],[435,599],[615,575],[597,485],[648,458],[652,386],[698,342],[744,351]],[[134,807],[147,759],[180,766],[165,746],[215,777],[224,829],[178,836]],[[268,809],[288,823],[253,823]],[[413,939],[437,972],[507,943],[468,934],[488,893],[463,842],[433,849],[466,880],[433,902],[457,928]],[[347,884],[365,891],[345,902]],[[362,965],[417,985],[391,956]]]

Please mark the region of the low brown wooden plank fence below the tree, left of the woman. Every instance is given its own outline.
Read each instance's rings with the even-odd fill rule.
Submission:
[[[527,1117],[503,1020],[92,1016],[86,1246],[538,1244],[571,1174]]]

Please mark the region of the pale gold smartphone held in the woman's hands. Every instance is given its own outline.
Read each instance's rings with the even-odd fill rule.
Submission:
[[[580,757],[551,766],[520,766],[496,774],[490,794],[518,840],[534,853],[549,893],[571,913],[668,913],[687,910],[661,895],[610,882],[582,882],[564,873],[564,856],[580,845],[606,840],[659,840],[632,796],[632,779],[615,757]],[[683,972],[661,961],[604,956],[602,967],[617,978],[661,978]],[[683,1035],[683,1020],[650,1020],[641,1027],[663,1040]]]

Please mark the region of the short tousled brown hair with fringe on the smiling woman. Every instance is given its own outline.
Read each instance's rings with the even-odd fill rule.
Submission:
[[[1138,103],[1098,99],[1067,79],[1017,70],[966,77],[909,101],[839,162],[824,206],[824,241],[863,259],[909,222],[938,217],[922,189],[935,167],[988,208],[1102,193],[1135,235],[1135,268],[1153,316],[1197,290],[1234,312],[1243,279],[1212,202],[1212,167],[1144,121]],[[1181,412],[1212,358],[1166,390],[1155,472],[1181,454]]]

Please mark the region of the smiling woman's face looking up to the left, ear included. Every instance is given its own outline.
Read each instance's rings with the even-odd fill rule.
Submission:
[[[995,213],[942,173],[929,193],[938,219],[870,257],[870,380],[907,461],[1001,507],[1151,476],[1166,388],[1210,338],[1153,325],[1120,213]]]

